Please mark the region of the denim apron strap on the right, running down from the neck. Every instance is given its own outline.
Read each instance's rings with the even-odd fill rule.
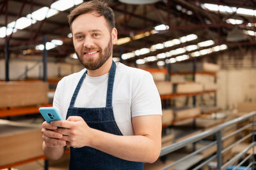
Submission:
[[[109,77],[108,77],[108,90],[107,90],[106,107],[111,107],[112,106],[113,86],[114,86],[114,80],[115,80],[115,73],[116,73],[116,63],[112,60],[112,66],[109,70]]]

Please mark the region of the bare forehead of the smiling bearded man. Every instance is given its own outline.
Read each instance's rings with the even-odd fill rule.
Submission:
[[[72,33],[90,31],[99,29],[100,31],[109,31],[108,23],[103,16],[96,12],[84,13],[79,15],[72,22]]]

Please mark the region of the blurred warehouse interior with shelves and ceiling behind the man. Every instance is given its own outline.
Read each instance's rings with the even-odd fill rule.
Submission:
[[[113,60],[150,72],[161,96],[162,152],[144,169],[253,168],[256,1],[106,2],[118,31]],[[38,108],[52,106],[58,81],[83,69],[67,20],[81,3],[0,1],[0,169],[68,169],[68,152],[58,161],[42,153]],[[234,135],[218,141],[217,131]]]

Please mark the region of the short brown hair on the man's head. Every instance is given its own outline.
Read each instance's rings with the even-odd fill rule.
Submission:
[[[108,6],[106,2],[93,0],[80,4],[70,12],[70,14],[68,15],[68,24],[70,25],[70,31],[72,31],[71,25],[76,17],[91,11],[96,11],[99,14],[99,17],[104,16],[104,18],[108,22],[109,30],[112,30],[113,27],[115,27],[115,15],[113,10]]]

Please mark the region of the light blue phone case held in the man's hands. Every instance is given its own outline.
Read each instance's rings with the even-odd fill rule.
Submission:
[[[44,117],[45,121],[50,123],[54,120],[63,120],[60,113],[53,107],[42,107],[39,108],[41,115]]]

